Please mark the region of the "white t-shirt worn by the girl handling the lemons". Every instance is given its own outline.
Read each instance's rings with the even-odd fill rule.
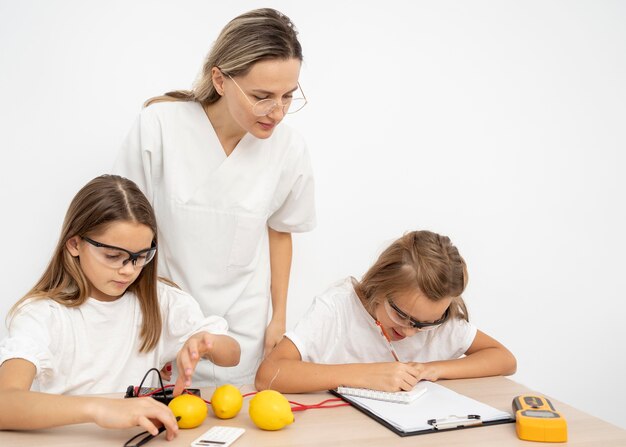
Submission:
[[[226,321],[204,317],[187,293],[158,284],[163,328],[156,348],[140,353],[143,321],[139,300],[126,292],[116,301],[89,298],[79,307],[51,299],[29,300],[9,322],[0,342],[0,364],[21,358],[37,368],[33,390],[55,394],[99,394],[138,386],[150,368],[174,360],[194,333],[225,334]],[[201,363],[209,363],[208,361]],[[156,372],[144,386],[156,386]]]

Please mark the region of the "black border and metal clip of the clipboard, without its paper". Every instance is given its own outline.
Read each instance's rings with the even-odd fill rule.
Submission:
[[[491,425],[501,425],[501,424],[510,424],[515,422],[515,418],[507,418],[507,419],[496,419],[493,421],[483,421],[480,415],[470,414],[467,416],[453,416],[446,419],[429,419],[428,424],[432,426],[432,428],[427,430],[415,430],[415,431],[402,431],[398,429],[393,424],[389,423],[386,419],[378,416],[377,414],[370,411],[368,408],[363,407],[358,402],[350,399],[347,396],[344,396],[337,392],[337,390],[328,390],[331,394],[341,398],[345,402],[349,403],[351,406],[362,412],[363,414],[369,416],[374,419],[381,425],[384,425],[389,430],[394,432],[396,435],[405,437],[405,436],[415,436],[415,435],[425,435],[428,433],[440,433],[444,431],[452,431],[452,430],[463,430],[466,428],[474,428],[474,427],[489,427]]]

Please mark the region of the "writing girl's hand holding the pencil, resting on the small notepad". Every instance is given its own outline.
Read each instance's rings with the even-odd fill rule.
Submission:
[[[364,363],[364,388],[381,391],[409,391],[423,379],[421,363]]]

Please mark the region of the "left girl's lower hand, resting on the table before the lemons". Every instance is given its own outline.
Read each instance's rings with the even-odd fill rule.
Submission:
[[[159,426],[167,430],[165,437],[171,441],[178,434],[178,424],[169,408],[150,397],[132,399],[95,398],[88,413],[103,428],[130,428],[140,426],[151,435],[159,434]]]

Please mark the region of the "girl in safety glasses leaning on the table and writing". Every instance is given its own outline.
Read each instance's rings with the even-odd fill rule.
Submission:
[[[261,364],[257,389],[407,391],[420,380],[513,374],[513,354],[469,322],[466,283],[449,238],[404,235],[361,281],[347,278],[315,299]]]

